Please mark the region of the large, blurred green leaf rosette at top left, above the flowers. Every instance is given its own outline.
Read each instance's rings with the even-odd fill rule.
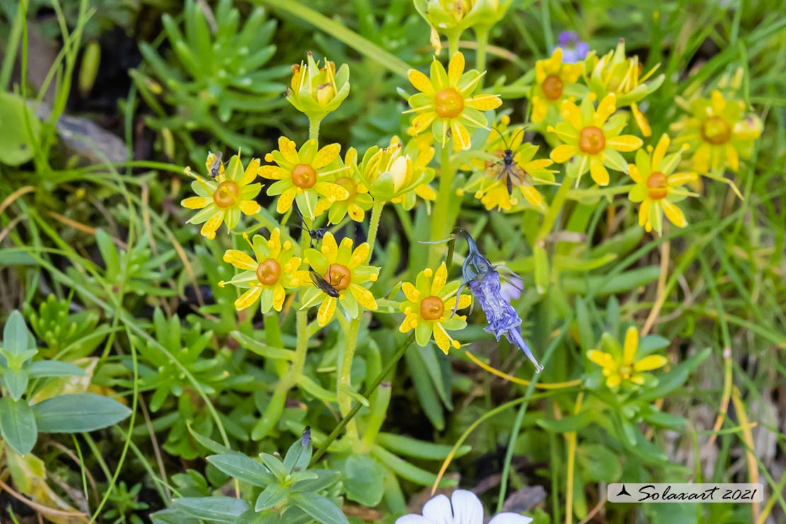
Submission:
[[[286,103],[281,97],[285,84],[279,80],[290,75],[291,68],[265,67],[276,51],[270,45],[276,21],[266,20],[265,10],[257,7],[241,26],[241,14],[231,0],[221,0],[215,12],[188,0],[182,15],[182,24],[168,14],[161,19],[171,50],[167,58],[142,42],[147,68],[130,72],[156,113],[149,126],[162,133],[169,156],[173,134],[193,151],[191,134],[196,130],[207,131],[229,148],[262,149],[261,142],[240,130],[274,125],[271,111]]]

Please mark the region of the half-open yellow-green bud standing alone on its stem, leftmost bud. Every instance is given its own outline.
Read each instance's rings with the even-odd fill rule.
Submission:
[[[292,80],[286,97],[290,104],[310,119],[321,120],[329,112],[336,111],[349,94],[349,67],[343,64],[336,73],[336,64],[325,60],[319,62],[308,52],[306,63],[292,66]]]

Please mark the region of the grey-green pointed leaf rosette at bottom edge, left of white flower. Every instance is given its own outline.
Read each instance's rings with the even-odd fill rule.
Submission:
[[[194,434],[214,451],[208,462],[241,485],[241,498],[181,497],[174,508],[152,515],[153,522],[183,522],[183,517],[204,522],[266,522],[271,524],[348,524],[337,497],[338,471],[309,468],[311,453],[308,428],[292,444],[284,460],[260,453],[259,460],[236,453]]]

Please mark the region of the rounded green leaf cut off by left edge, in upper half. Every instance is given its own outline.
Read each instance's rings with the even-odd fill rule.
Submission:
[[[33,145],[39,139],[41,123],[29,107],[25,117],[24,104],[22,97],[0,91],[0,162],[7,166],[33,158]]]

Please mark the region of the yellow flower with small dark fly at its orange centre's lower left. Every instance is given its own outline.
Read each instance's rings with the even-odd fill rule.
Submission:
[[[336,303],[341,304],[350,318],[357,318],[360,314],[358,304],[366,310],[376,311],[374,295],[362,285],[376,282],[376,277],[380,273],[378,267],[365,266],[369,255],[370,247],[367,242],[352,251],[351,238],[344,238],[339,246],[332,233],[325,233],[319,251],[314,248],[306,250],[305,262],[332,287],[333,291],[336,291],[337,296],[329,295],[315,287],[308,271],[298,271],[293,284],[310,286],[303,293],[301,299],[303,306],[300,309],[321,302],[317,313],[317,323],[321,326],[331,321],[336,313]]]

